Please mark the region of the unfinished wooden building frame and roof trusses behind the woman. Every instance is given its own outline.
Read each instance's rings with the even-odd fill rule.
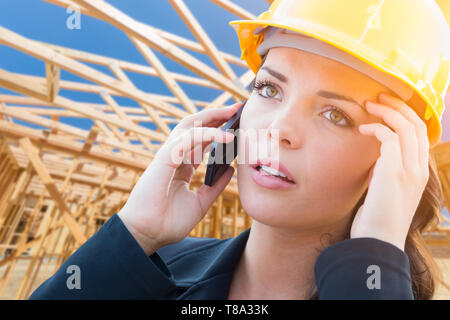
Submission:
[[[10,297],[27,298],[123,206],[140,174],[170,134],[172,124],[199,108],[222,107],[230,98],[247,99],[245,88],[254,77],[251,70],[235,74],[230,64],[246,64],[214,45],[183,0],[168,1],[197,42],[138,22],[103,0],[46,1],[78,7],[82,14],[125,32],[148,65],[43,43],[0,26],[0,44],[37,58],[46,66],[45,77],[0,69],[0,86],[16,93],[0,94],[0,297],[8,288],[8,292],[14,290]],[[210,1],[237,18],[255,18],[230,0]],[[188,50],[207,55],[217,69]],[[168,71],[154,51],[198,77]],[[90,65],[107,67],[114,77]],[[89,83],[62,80],[61,69]],[[138,89],[128,72],[160,78],[173,96]],[[212,101],[193,101],[179,82],[223,93]],[[61,89],[98,94],[104,103],[74,101],[59,95]],[[130,98],[140,108],[120,105],[118,97]],[[94,125],[85,130],[60,122],[60,117],[88,118]],[[18,124],[13,119],[44,129]],[[157,129],[141,126],[141,121],[152,122]],[[133,140],[139,143],[133,144]],[[450,154],[446,154],[450,146],[443,144],[436,150],[446,203],[450,204]],[[192,189],[201,186],[204,175],[202,164],[192,180]],[[226,238],[250,224],[233,178],[190,235]],[[450,244],[448,228],[441,225],[431,231],[430,241]],[[25,276],[17,287],[8,287],[15,270],[24,268],[23,262]]]

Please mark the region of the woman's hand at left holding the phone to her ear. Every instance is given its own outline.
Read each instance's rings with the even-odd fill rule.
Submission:
[[[203,184],[197,191],[189,190],[201,162],[194,163],[194,154],[203,155],[212,141],[234,140],[232,133],[218,127],[241,106],[238,102],[183,118],[137,181],[118,216],[148,255],[187,237],[230,181],[231,166],[214,186]]]

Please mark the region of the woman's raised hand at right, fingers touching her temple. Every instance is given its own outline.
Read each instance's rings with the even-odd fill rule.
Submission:
[[[350,237],[372,237],[404,250],[414,213],[428,182],[427,127],[403,100],[388,94],[380,103],[366,103],[369,113],[384,120],[361,125],[362,134],[381,142],[380,157],[369,174],[364,204],[353,221]]]

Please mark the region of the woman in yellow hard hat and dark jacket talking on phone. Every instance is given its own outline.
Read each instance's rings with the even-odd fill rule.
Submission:
[[[186,162],[211,141],[233,141],[218,127],[242,104],[204,110],[178,124],[124,207],[31,299],[431,299],[438,272],[421,232],[442,205],[429,147],[440,138],[436,110],[443,109],[448,65],[435,70],[445,83],[434,87],[440,100],[430,109],[426,90],[419,96],[401,72],[361,63],[369,61],[363,59],[369,53],[355,60],[348,43],[338,45],[331,35],[325,43],[323,34],[298,23],[306,14],[309,22],[319,15],[327,23],[333,17],[342,21],[346,8],[354,9],[356,18],[361,8],[375,12],[359,39],[367,45],[365,37],[376,36],[371,28],[383,28],[378,14],[390,28],[394,19],[401,20],[389,7],[393,2],[378,7],[370,6],[373,1],[350,2],[274,1],[253,22],[235,22],[243,57],[256,73],[240,129],[266,130],[257,140],[238,140],[239,155],[252,143],[278,144],[266,166],[238,162],[239,196],[253,218],[250,229],[226,240],[187,237],[233,168],[214,186],[191,191],[198,163]],[[437,19],[433,31],[448,39],[434,3],[396,4]],[[283,17],[288,22],[281,25]],[[263,36],[254,41],[249,34]],[[439,41],[409,41],[419,40],[448,54],[447,44]],[[183,143],[186,139],[191,143]],[[280,171],[286,178],[267,177]],[[70,285],[71,265],[79,266],[81,282]]]

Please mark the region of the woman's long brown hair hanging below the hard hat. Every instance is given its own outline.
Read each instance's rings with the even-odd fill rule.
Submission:
[[[262,57],[264,64],[267,54]],[[256,79],[256,77],[255,77]],[[253,90],[255,79],[250,84],[249,92]],[[428,161],[429,178],[425,190],[416,209],[405,242],[405,253],[410,264],[412,291],[415,300],[430,300],[433,298],[438,283],[442,282],[442,274],[439,266],[427,248],[422,233],[442,219],[442,206],[444,194],[439,180],[438,171],[431,154]],[[367,189],[358,200],[352,211],[352,219],[364,203]],[[344,235],[344,239],[350,238],[351,225]],[[320,250],[319,250],[320,251]],[[311,299],[317,299],[317,288],[311,289]]]

